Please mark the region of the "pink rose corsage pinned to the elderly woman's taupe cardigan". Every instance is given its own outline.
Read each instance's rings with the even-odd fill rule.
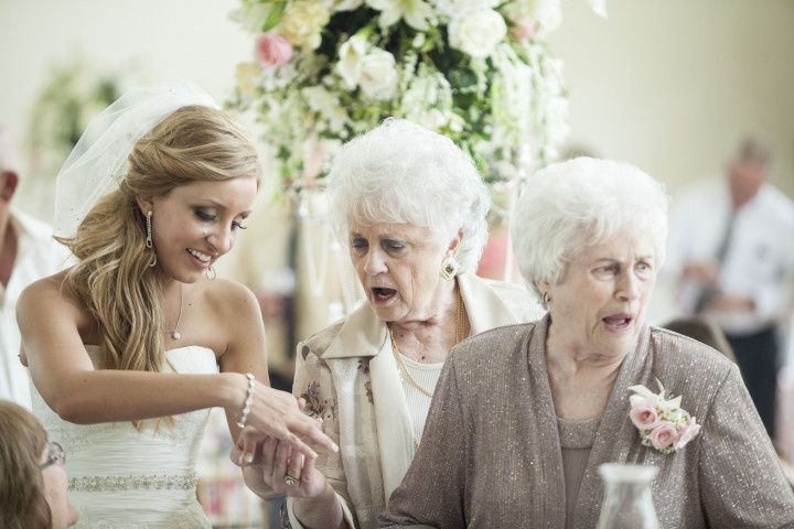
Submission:
[[[631,386],[634,395],[629,397],[629,418],[640,430],[640,440],[645,446],[653,446],[663,454],[669,454],[695,439],[700,424],[680,407],[680,396],[666,398],[662,382],[659,392],[654,393],[645,386]]]

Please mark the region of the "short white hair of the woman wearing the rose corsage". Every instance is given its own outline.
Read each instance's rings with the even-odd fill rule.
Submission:
[[[650,236],[658,269],[668,203],[662,184],[627,163],[577,158],[548,165],[527,181],[513,214],[518,269],[540,298],[537,282],[558,283],[573,257],[619,231]]]

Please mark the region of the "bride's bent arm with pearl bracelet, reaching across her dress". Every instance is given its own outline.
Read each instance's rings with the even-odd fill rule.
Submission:
[[[250,369],[215,375],[95,370],[78,332],[78,322],[84,317],[51,280],[25,289],[17,303],[33,384],[47,406],[66,421],[133,421],[216,406],[236,417],[247,397],[248,381],[242,373],[256,370],[267,382],[253,360],[236,364]],[[300,412],[291,395],[265,384],[256,386],[248,423],[287,440],[303,453],[310,449],[298,436],[315,446],[330,449],[333,444]]]

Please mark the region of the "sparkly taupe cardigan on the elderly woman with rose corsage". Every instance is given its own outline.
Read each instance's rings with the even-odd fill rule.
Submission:
[[[623,360],[567,525],[547,328],[548,319],[501,327],[450,353],[382,527],[592,529],[604,496],[598,467],[618,462],[658,468],[662,529],[794,528],[794,494],[736,365],[655,327]],[[629,418],[629,387],[657,391],[656,379],[702,427],[670,454],[642,445]]]

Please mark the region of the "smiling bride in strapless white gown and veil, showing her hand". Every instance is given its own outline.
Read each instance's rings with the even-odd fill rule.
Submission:
[[[194,472],[208,408],[314,457],[336,450],[268,386],[245,287],[215,279],[260,183],[245,133],[190,84],[136,89],[96,118],[56,181],[76,257],[17,313],[34,412],[68,454],[88,528],[205,528]]]

